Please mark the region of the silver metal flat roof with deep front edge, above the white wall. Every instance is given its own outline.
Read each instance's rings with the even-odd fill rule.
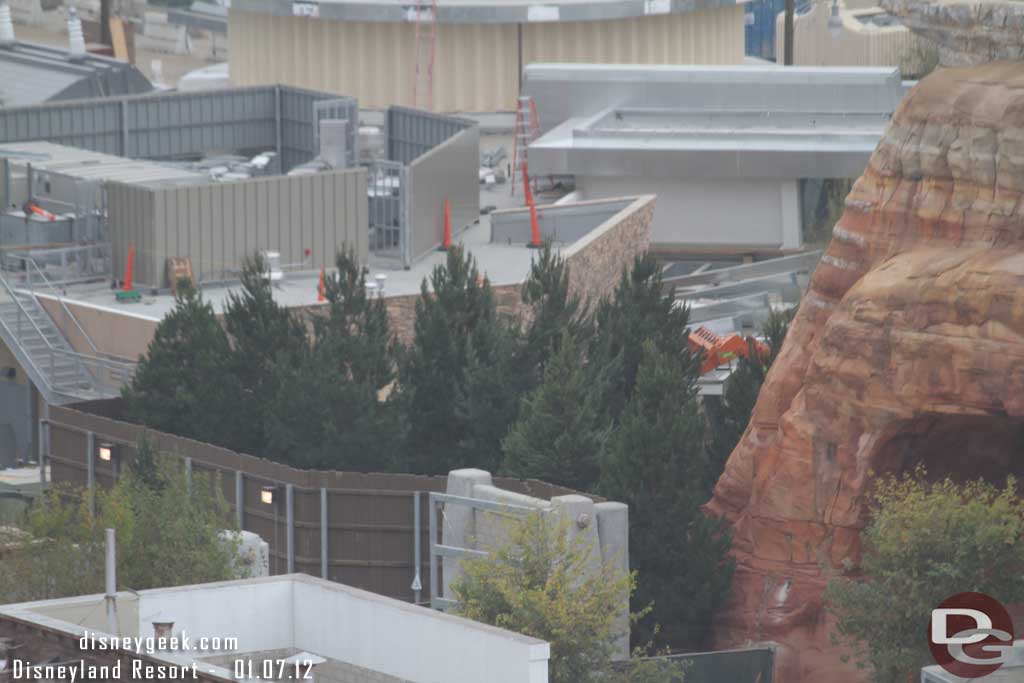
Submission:
[[[608,108],[529,145],[539,174],[842,178],[863,172],[883,114]]]

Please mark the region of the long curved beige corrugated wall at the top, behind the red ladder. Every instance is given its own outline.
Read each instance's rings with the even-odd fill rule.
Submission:
[[[520,65],[531,61],[741,63],[743,8],[609,22],[438,24],[436,41],[435,111],[512,111]],[[413,24],[231,8],[228,42],[234,85],[302,86],[352,95],[370,109],[412,104]]]

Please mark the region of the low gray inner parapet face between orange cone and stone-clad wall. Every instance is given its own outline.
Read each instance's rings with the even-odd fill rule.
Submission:
[[[537,207],[542,241],[572,243],[634,202],[633,198]],[[490,214],[490,242],[526,244],[532,239],[529,209],[504,209]]]

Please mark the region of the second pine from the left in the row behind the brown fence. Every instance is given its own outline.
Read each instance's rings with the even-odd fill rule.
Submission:
[[[231,341],[230,368],[242,400],[222,413],[218,443],[244,453],[283,458],[291,444],[281,434],[267,434],[270,419],[266,403],[280,380],[281,366],[303,362],[308,342],[305,327],[285,306],[273,300],[267,265],[259,254],[242,268],[242,290],[231,292],[224,307],[224,327]],[[268,447],[268,441],[274,443]],[[286,458],[287,460],[287,458]]]

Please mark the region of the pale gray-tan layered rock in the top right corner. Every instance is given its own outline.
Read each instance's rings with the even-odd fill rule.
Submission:
[[[881,0],[880,4],[933,41],[943,67],[1024,59],[1020,0]]]

